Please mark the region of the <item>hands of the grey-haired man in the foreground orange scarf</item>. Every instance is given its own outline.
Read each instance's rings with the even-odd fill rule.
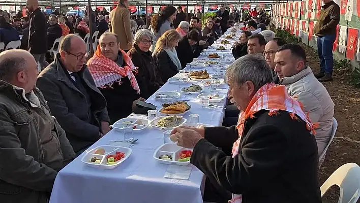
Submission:
[[[170,140],[177,141],[177,145],[185,148],[193,149],[197,142],[204,138],[200,133],[193,129],[178,127],[171,133]]]

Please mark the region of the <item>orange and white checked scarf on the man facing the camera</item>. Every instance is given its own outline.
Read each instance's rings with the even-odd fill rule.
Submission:
[[[136,81],[138,67],[135,67],[129,55],[120,49],[123,54],[125,65],[119,67],[114,61],[108,59],[101,53],[100,45],[98,45],[94,56],[87,62],[87,68],[92,74],[96,86],[104,88],[105,85],[111,85],[113,82],[121,82],[121,78],[128,77],[131,86],[137,93],[140,93],[139,85]]]

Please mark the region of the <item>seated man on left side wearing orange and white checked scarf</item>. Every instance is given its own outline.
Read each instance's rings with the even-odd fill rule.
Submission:
[[[94,56],[87,62],[96,86],[107,101],[112,123],[128,117],[138,100],[144,101],[134,75],[137,67],[117,42],[116,34],[104,33]]]

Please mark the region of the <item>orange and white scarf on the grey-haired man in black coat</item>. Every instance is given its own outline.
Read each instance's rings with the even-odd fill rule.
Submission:
[[[260,110],[269,110],[268,115],[276,115],[279,110],[287,111],[292,119],[301,119],[306,122],[306,128],[314,135],[317,124],[313,124],[309,118],[309,114],[303,111],[303,104],[292,98],[284,85],[267,83],[263,85],[251,99],[245,111],[239,114],[236,129],[238,131],[238,139],[232,147],[232,158],[238,155],[239,144],[243,135],[245,121],[254,118],[254,113]],[[299,117],[299,118],[298,118]],[[242,195],[233,194],[231,203],[241,203]]]

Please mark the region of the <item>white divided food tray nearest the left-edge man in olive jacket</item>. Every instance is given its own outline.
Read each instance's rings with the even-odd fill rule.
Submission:
[[[81,161],[88,166],[113,169],[123,163],[133,150],[126,147],[99,146],[92,150],[86,150]]]

